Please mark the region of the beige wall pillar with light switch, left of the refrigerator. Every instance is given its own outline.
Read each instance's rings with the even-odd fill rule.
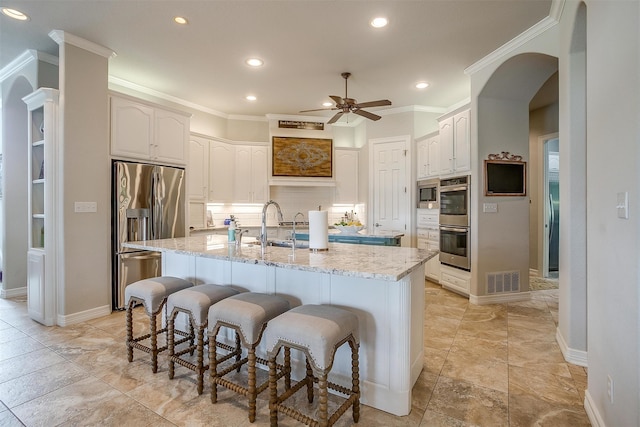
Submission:
[[[108,59],[68,43],[60,46],[62,224],[58,242],[64,287],[59,315],[111,308],[111,188]],[[74,202],[95,201],[96,213]]]

